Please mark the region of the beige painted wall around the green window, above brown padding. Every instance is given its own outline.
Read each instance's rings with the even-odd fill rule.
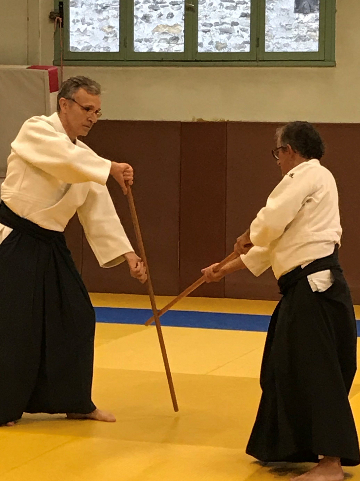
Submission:
[[[1,0],[0,63],[51,63],[52,0],[27,1]],[[360,122],[359,25],[360,0],[337,0],[336,67],[65,67],[64,77],[98,80],[109,119]]]

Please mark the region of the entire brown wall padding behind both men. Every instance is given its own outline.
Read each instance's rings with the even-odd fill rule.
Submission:
[[[134,196],[157,294],[177,294],[199,277],[201,267],[232,251],[236,237],[248,228],[281,179],[271,156],[276,127],[105,120],[93,128],[87,143],[96,152],[135,168]],[[323,165],[333,172],[339,188],[344,229],[340,259],[354,302],[360,304],[360,125],[317,127],[327,147]],[[136,245],[126,199],[112,178],[109,190]],[[77,219],[70,222],[66,235],[89,291],[145,292],[129,277],[126,265],[98,266]],[[259,278],[247,271],[235,273],[225,282],[202,286],[194,295],[279,298],[270,270]]]

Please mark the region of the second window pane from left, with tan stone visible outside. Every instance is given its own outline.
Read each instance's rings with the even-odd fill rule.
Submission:
[[[184,51],[184,0],[135,0],[134,51]]]

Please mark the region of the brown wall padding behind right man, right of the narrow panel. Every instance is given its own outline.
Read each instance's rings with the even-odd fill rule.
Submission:
[[[248,228],[264,205],[267,195],[280,180],[279,168],[271,156],[277,124],[229,123],[227,146],[226,246],[231,250],[238,234]],[[360,165],[354,156],[360,150],[359,124],[315,125],[325,142],[322,164],[334,174],[340,198],[343,227],[340,262],[355,303],[360,303],[360,258],[357,246],[360,227]],[[243,140],[245,139],[245,142]],[[271,270],[255,278],[248,271],[225,280],[225,297],[278,299]]]

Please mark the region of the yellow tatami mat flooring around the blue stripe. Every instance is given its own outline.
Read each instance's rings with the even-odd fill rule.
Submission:
[[[101,304],[101,296],[92,296],[94,304],[96,298],[96,305],[109,305],[104,297]],[[110,300],[116,306],[116,299]],[[123,301],[124,307],[148,307],[144,298]],[[189,301],[191,309],[207,304]],[[208,301],[209,310],[220,308],[218,300]],[[239,309],[236,302],[228,306]],[[243,306],[257,314],[269,308]],[[245,454],[261,394],[265,333],[176,327],[164,327],[163,333],[178,413],[172,409],[156,329],[100,323],[93,399],[117,422],[25,415],[15,427],[0,428],[0,480],[270,481],[288,480],[309,468],[261,467]],[[360,426],[358,376],[350,397]],[[346,472],[360,479],[359,467]]]

